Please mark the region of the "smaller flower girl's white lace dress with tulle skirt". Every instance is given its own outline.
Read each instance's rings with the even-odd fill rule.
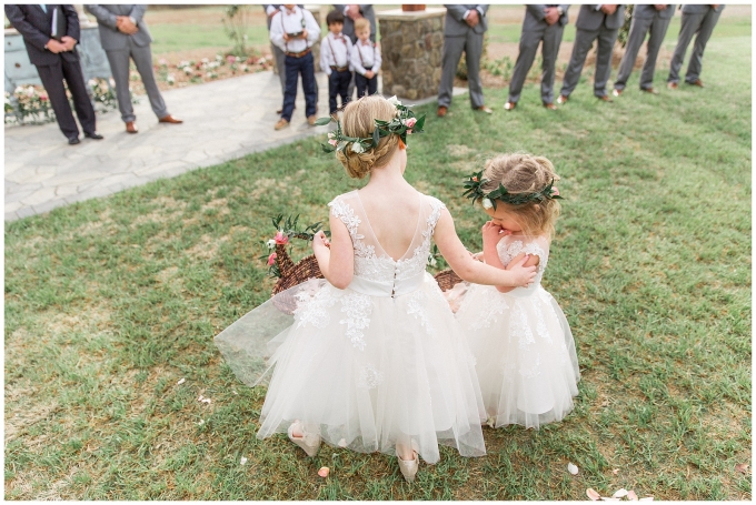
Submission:
[[[456,316],[477,360],[489,425],[538,428],[573,410],[580,380],[575,341],[561,309],[540,285],[548,240],[508,235],[496,249],[505,266],[521,252],[538,255],[535,282],[508,293],[471,284]]]

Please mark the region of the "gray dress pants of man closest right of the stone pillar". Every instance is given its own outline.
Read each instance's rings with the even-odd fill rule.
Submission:
[[[441,55],[441,82],[438,87],[438,105],[451,104],[454,77],[457,73],[459,59],[465,51],[467,61],[467,85],[470,90],[470,105],[477,109],[484,105],[483,83],[480,81],[480,57],[483,54],[483,33],[468,30],[467,36],[445,37]]]

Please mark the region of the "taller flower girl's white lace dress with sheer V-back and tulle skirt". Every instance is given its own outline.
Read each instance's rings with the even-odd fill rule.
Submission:
[[[380,246],[357,191],[329,205],[355,248],[351,284],[309,281],[271,299],[216,337],[226,362],[253,385],[275,364],[258,438],[295,420],[325,442],[395,454],[411,440],[427,463],[438,444],[486,453],[475,360],[459,323],[426,272],[444,204],[421,200],[412,243],[398,260]],[[296,304],[287,315],[285,299]],[[267,350],[261,343],[268,342]],[[262,350],[262,351],[261,351]]]

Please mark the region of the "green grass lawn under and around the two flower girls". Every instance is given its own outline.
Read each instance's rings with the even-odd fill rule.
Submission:
[[[486,427],[487,456],[442,448],[411,485],[386,455],[325,446],[308,459],[285,436],[258,441],[265,390],[239,383],[212,344],[270,294],[257,260],[269,218],[326,221],[326,203],[360,185],[319,153],[325,134],[6,223],[4,497],[585,499],[625,487],[750,499],[750,468],[735,468],[752,458],[750,62],[750,37],[715,37],[703,90],[668,91],[660,71],[662,94],[641,94],[636,71],[610,104],[584,79],[556,112],[535,85],[508,113],[505,90],[486,91],[493,115],[466,97],[444,120],[420,108],[407,178],[447,203],[471,250],[486,215],[461,198],[464,175],[525,150],[563,176],[544,284],[583,380],[563,423]]]

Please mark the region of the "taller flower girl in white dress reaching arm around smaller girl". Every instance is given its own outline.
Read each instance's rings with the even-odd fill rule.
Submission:
[[[335,149],[326,148],[350,176],[370,180],[329,204],[330,243],[322,232],[312,243],[326,279],[276,295],[216,337],[247,384],[275,364],[258,438],[288,432],[309,456],[321,441],[397,454],[408,481],[418,455],[438,462],[439,443],[462,456],[486,453],[475,362],[425,270],[431,236],[471,282],[527,285],[536,271],[472,260],[444,204],[404,179],[406,134],[421,132],[422,123],[396,100],[378,95],[346,107],[342,123],[329,134]],[[286,306],[284,299],[296,301],[294,317],[277,310]],[[269,355],[259,352],[277,333]]]

